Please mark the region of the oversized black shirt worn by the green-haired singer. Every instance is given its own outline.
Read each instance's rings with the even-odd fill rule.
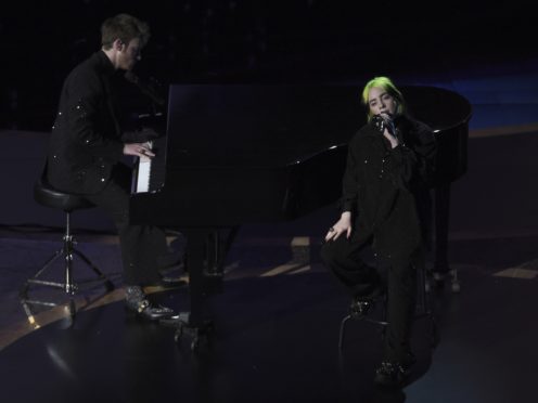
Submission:
[[[422,239],[418,196],[433,180],[437,146],[423,122],[400,116],[395,126],[400,139],[395,148],[373,123],[351,139],[342,211],[351,211],[359,243],[373,238],[382,259],[404,262]]]

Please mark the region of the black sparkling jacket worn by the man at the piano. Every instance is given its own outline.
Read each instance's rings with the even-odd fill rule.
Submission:
[[[48,152],[48,179],[61,191],[99,193],[123,158],[110,82],[114,72],[99,51],[64,81]]]

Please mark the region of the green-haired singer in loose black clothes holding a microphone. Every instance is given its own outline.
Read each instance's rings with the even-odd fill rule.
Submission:
[[[415,306],[415,262],[423,260],[421,202],[433,176],[432,130],[406,113],[388,77],[362,90],[368,122],[349,143],[341,217],[321,249],[324,264],[351,294],[351,310],[366,315],[387,294],[388,326],[374,381],[402,386],[414,356],[410,334]],[[375,263],[364,252],[373,251]]]

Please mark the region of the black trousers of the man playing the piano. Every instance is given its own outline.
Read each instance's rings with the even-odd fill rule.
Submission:
[[[125,285],[155,285],[161,281],[158,258],[168,252],[166,235],[154,225],[129,224],[131,180],[131,169],[118,164],[104,190],[85,197],[104,209],[116,225]]]

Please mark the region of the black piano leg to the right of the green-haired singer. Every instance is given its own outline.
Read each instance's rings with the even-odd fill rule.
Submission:
[[[435,256],[433,278],[437,286],[443,287],[445,278],[450,277],[453,292],[460,290],[458,274],[448,264],[448,223],[450,219],[450,184],[443,184],[434,190],[435,199]]]

